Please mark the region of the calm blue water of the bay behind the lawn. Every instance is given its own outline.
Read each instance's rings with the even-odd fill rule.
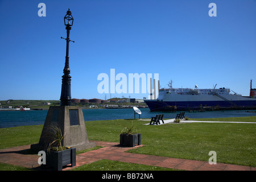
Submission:
[[[161,112],[150,112],[149,109],[143,108],[141,118],[151,118]],[[84,109],[85,121],[98,121],[109,119],[133,119],[133,109]],[[224,117],[243,117],[256,115],[253,112],[245,111],[205,111],[204,113],[188,113],[185,117],[189,118],[224,118]],[[48,110],[27,110],[27,111],[0,111],[0,128],[15,127],[26,125],[43,125]],[[179,112],[177,112],[179,113]],[[164,118],[175,118],[177,113],[163,113]],[[136,114],[136,118],[139,115]]]

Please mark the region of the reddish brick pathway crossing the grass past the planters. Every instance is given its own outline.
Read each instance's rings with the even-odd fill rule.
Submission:
[[[162,156],[133,154],[125,151],[141,146],[119,147],[119,143],[114,142],[93,142],[96,142],[97,146],[104,146],[104,148],[99,148],[97,150],[76,155],[76,167],[83,164],[93,163],[101,159],[109,159],[127,163],[146,164],[150,166],[183,169],[188,171],[256,171],[255,167],[249,166],[238,166],[224,163],[210,165],[208,162],[199,160],[175,159]],[[0,150],[0,162],[27,168],[37,168],[39,167],[39,156],[28,154],[27,150],[29,148],[30,145],[2,149]],[[66,167],[63,170],[69,169],[72,169],[72,167]]]

